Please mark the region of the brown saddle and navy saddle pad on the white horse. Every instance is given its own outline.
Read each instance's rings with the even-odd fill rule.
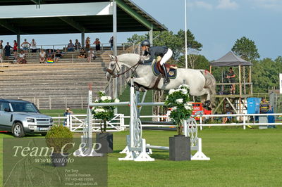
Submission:
[[[177,69],[176,65],[166,63],[164,65],[166,67],[166,72],[164,72],[164,69],[161,67],[160,61],[161,61],[161,57],[158,56],[157,60],[154,60],[154,62],[152,63],[154,75],[156,76],[163,75],[164,76],[164,73],[167,73],[169,79],[175,79],[176,78],[176,69]]]

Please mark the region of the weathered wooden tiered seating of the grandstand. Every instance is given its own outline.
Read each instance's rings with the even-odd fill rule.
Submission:
[[[76,58],[79,52],[67,52],[54,64],[40,64],[38,53],[28,53],[27,64],[3,63],[0,67],[1,98],[32,101],[42,109],[85,108],[89,84],[92,84],[94,97],[108,84],[105,69],[112,53],[99,51],[91,63],[86,58]],[[121,47],[118,53],[126,51]]]

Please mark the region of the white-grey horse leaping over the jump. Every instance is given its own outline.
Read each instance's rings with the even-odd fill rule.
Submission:
[[[216,80],[207,70],[178,68],[176,79],[171,79],[168,84],[164,84],[162,81],[163,78],[161,78],[161,81],[156,84],[158,77],[154,75],[152,65],[137,64],[140,60],[140,55],[126,53],[119,56],[110,55],[110,57],[111,62],[106,70],[108,81],[111,77],[122,74],[121,65],[125,65],[133,70],[136,68],[136,77],[133,78],[135,89],[139,89],[140,91],[145,91],[145,89],[170,90],[177,89],[184,82],[190,87],[191,96],[201,96],[202,103],[205,103],[207,106],[214,104]]]

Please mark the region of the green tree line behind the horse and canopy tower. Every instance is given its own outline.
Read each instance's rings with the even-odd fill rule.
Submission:
[[[149,39],[149,34],[138,35],[133,34],[128,38],[128,42],[138,44],[144,39]],[[168,46],[173,51],[171,63],[178,67],[185,67],[185,31],[179,30],[176,34],[172,31],[153,32],[154,46]],[[209,70],[209,60],[205,56],[200,55],[202,44],[195,39],[194,34],[187,31],[188,43],[188,68]],[[254,93],[265,93],[269,88],[279,87],[279,73],[282,70],[282,57],[276,59],[263,58],[259,59],[260,55],[255,45],[255,41],[242,37],[234,42],[232,49],[237,56],[252,63],[252,83]],[[220,57],[219,57],[220,58]],[[216,60],[216,59],[214,59]],[[229,67],[213,67],[212,74],[216,78],[216,82],[222,82],[222,72],[228,71]],[[234,68],[233,68],[234,69]],[[237,71],[237,73],[236,73]],[[248,72],[245,72],[246,76]],[[238,75],[238,69],[235,67],[235,74]],[[238,77],[238,76],[237,76]],[[237,78],[238,82],[238,78]]]

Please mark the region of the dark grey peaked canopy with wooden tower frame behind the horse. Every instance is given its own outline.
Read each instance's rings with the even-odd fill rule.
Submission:
[[[236,56],[232,51],[229,51],[228,53],[226,53],[225,56],[219,58],[218,60],[210,62],[210,67],[209,67],[210,72],[212,72],[212,66],[216,66],[216,67],[238,66],[239,67],[239,76],[238,77],[239,77],[239,102],[240,103],[241,103],[241,98],[242,98],[241,66],[243,66],[244,94],[246,95],[246,84],[250,85],[249,94],[252,94],[252,79],[251,79],[252,63],[244,60],[243,58],[240,58],[239,56]],[[246,79],[245,79],[245,66],[249,67],[248,82],[246,82]],[[221,71],[221,75],[223,75],[222,71]],[[223,86],[223,85],[229,85],[229,84],[230,83],[218,83],[217,85]],[[223,100],[224,100],[224,98],[223,98]],[[230,103],[230,101],[228,101],[228,102]],[[235,108],[233,107],[233,109],[235,109]],[[241,105],[240,105],[240,113],[242,112],[241,109],[242,108],[241,108]]]

